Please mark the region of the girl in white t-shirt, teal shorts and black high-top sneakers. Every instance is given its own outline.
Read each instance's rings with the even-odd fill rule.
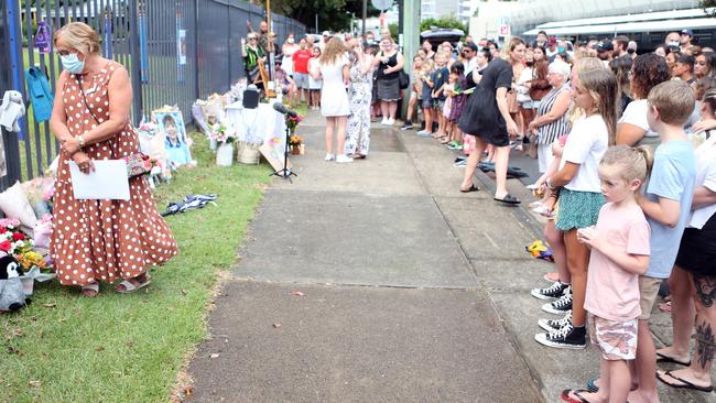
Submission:
[[[572,294],[564,299],[547,304],[554,308],[547,312],[566,312],[560,329],[538,334],[536,341],[556,348],[586,347],[586,311],[584,298],[587,287],[587,265],[589,249],[577,241],[577,230],[597,224],[599,210],[604,205],[599,182],[599,161],[609,144],[614,144],[617,113],[617,79],[611,72],[597,68],[582,70],[578,83],[574,85],[575,105],[585,111],[569,132],[564,146],[560,171],[546,179],[546,187],[560,190],[560,211],[556,229],[564,231],[567,252],[567,268],[572,279]]]

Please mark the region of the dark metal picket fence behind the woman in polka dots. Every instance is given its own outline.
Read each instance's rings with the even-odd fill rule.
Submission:
[[[70,21],[82,21],[101,37],[101,53],[127,67],[132,80],[132,118],[163,105],[176,105],[186,122],[197,98],[225,92],[243,76],[240,39],[265,19],[265,10],[238,0],[0,0],[0,96],[8,89],[23,94],[24,72],[39,66],[55,91],[62,72],[54,53],[40,53],[33,37],[40,22],[53,31]],[[283,15],[271,14],[279,42],[296,36],[305,26]],[[57,153],[58,144],[47,122],[34,121],[33,108],[21,120],[21,133],[3,130],[7,175],[0,189],[18,179],[42,173]],[[1,151],[0,151],[1,152]],[[2,159],[0,159],[0,164]],[[0,167],[0,175],[2,170]]]

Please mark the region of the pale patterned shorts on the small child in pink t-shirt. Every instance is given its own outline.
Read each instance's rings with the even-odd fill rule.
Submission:
[[[589,314],[589,340],[608,361],[633,360],[637,357],[639,322],[608,320]]]

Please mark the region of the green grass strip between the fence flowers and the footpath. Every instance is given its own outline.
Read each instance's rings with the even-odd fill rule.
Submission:
[[[187,353],[207,335],[217,273],[237,260],[269,182],[268,165],[214,164],[203,135],[199,166],[155,192],[160,210],[193,193],[218,193],[218,206],[166,218],[180,254],[152,270],[153,283],[96,298],[57,282],[36,284],[33,303],[0,315],[0,402],[166,402]]]

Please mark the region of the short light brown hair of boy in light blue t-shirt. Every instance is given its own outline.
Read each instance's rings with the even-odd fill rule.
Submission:
[[[683,126],[694,111],[694,92],[684,81],[669,80],[649,91],[649,107],[655,107],[662,122]]]

